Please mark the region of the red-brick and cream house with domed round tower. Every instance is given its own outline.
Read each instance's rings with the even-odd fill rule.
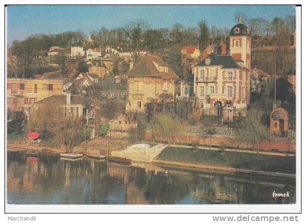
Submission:
[[[245,116],[250,95],[251,37],[241,18],[231,28],[227,44],[193,67],[193,96],[204,114],[232,121]]]

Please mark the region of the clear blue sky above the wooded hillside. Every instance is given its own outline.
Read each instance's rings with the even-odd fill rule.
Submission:
[[[248,18],[295,14],[292,5],[8,5],[7,40],[22,40],[31,34],[57,34],[82,30],[88,35],[101,27],[122,27],[143,20],[154,28],[170,28],[175,23],[196,27],[200,20],[208,26],[231,28],[235,14]]]

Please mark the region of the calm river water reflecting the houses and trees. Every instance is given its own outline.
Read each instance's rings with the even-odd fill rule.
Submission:
[[[167,171],[167,172],[166,172]],[[273,197],[287,192],[289,197]],[[7,154],[7,200],[13,204],[294,203],[295,181],[182,170],[143,163],[124,166],[58,155]]]

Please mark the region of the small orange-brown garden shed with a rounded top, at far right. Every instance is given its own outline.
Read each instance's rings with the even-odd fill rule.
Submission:
[[[281,107],[273,108],[270,115],[270,131],[286,136],[288,131],[288,113]]]

